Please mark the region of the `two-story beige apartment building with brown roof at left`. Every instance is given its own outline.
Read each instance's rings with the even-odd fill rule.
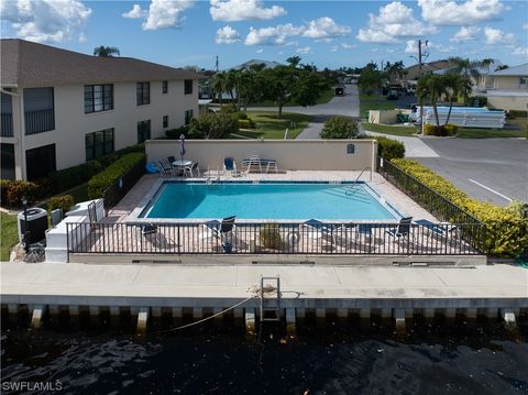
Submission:
[[[156,139],[198,114],[202,76],[1,40],[1,178],[35,179]]]

